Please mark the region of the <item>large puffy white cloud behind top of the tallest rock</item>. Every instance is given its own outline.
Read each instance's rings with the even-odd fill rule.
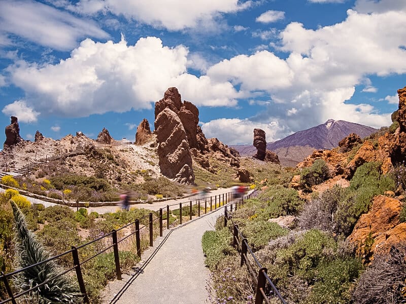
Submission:
[[[156,37],[136,45],[83,41],[57,64],[17,61],[10,82],[25,91],[25,102],[43,115],[86,117],[108,111],[148,109],[168,87],[198,105],[232,106],[239,94],[229,82],[187,74],[188,50],[162,46]]]

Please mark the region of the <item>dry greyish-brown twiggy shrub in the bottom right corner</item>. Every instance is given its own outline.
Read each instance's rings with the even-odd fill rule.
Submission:
[[[389,254],[376,254],[359,278],[353,299],[360,304],[401,303],[406,297],[406,246],[392,246]]]

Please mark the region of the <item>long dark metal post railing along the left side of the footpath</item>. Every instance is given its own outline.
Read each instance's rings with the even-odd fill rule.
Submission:
[[[11,302],[13,304],[17,304],[16,299],[29,294],[31,291],[34,290],[38,290],[39,288],[41,288],[42,286],[45,286],[46,284],[48,284],[49,282],[52,282],[53,280],[57,279],[60,276],[66,275],[70,272],[75,271],[76,274],[76,279],[79,285],[79,289],[80,292],[82,293],[83,296],[83,302],[84,303],[89,303],[89,298],[87,295],[87,291],[86,291],[86,286],[85,286],[85,281],[83,279],[83,274],[82,274],[82,268],[81,266],[83,264],[85,264],[86,262],[89,262],[91,259],[95,258],[96,256],[100,255],[101,253],[104,253],[108,250],[113,250],[114,253],[114,263],[115,263],[115,272],[116,272],[116,277],[117,280],[121,280],[121,267],[120,267],[120,258],[119,258],[119,244],[121,242],[123,242],[124,240],[128,239],[129,237],[135,235],[136,237],[136,248],[137,248],[137,256],[141,259],[141,236],[140,236],[140,231],[142,229],[148,229],[149,230],[149,246],[153,246],[153,236],[154,236],[154,222],[159,221],[158,225],[159,225],[159,236],[162,237],[163,235],[163,217],[164,215],[166,215],[166,229],[170,230],[171,225],[170,225],[170,215],[171,213],[174,213],[174,211],[178,210],[170,210],[171,206],[177,206],[179,205],[179,224],[182,224],[182,214],[186,214],[189,215],[189,220],[192,219],[192,215],[193,215],[193,206],[195,206],[195,209],[197,209],[197,217],[203,216],[205,214],[207,214],[210,211],[215,211],[216,209],[225,206],[231,198],[231,193],[225,193],[225,194],[220,194],[220,195],[216,195],[216,196],[210,196],[210,197],[206,197],[206,198],[200,198],[200,199],[196,199],[196,200],[190,200],[188,202],[184,202],[184,203],[179,203],[179,204],[172,204],[172,205],[166,205],[166,210],[165,212],[163,212],[163,209],[160,208],[158,211],[155,212],[150,212],[148,215],[145,215],[139,219],[136,219],[134,222],[130,222],[122,227],[120,227],[117,230],[113,230],[112,232],[110,232],[109,234],[103,235],[99,238],[96,238],[86,244],[80,245],[80,246],[72,246],[71,250],[65,251],[61,254],[58,254],[56,256],[53,256],[45,261],[41,261],[39,263],[30,265],[28,267],[25,267],[23,269],[19,269],[16,270],[14,272],[8,273],[8,274],[4,274],[3,272],[0,272],[0,282],[3,282],[5,289],[7,291],[7,294],[9,296],[9,298],[7,299],[0,299],[0,304],[5,304],[8,302]],[[194,202],[194,203],[193,203]],[[204,207],[204,214],[201,214],[201,207]],[[210,211],[209,211],[210,208]],[[155,215],[155,218],[154,218]],[[148,221],[147,221],[147,217],[148,217]],[[145,220],[146,224],[144,224],[142,227],[140,227],[140,221]],[[123,238],[118,240],[117,237],[117,232],[122,231],[123,229],[130,227],[131,225],[134,225],[134,230],[124,236]],[[98,241],[106,241],[107,238],[111,237],[111,242],[112,245],[107,246],[101,250],[99,250],[98,252],[96,252],[94,255],[92,255],[91,257],[88,257],[86,259],[84,259],[83,261],[80,260],[79,257],[79,250],[82,248],[85,248],[89,245],[94,244],[95,242]],[[46,262],[49,261],[55,261],[58,258],[61,258],[63,256],[66,255],[72,255],[72,261],[73,261],[73,265],[72,267],[69,267],[68,269],[63,270],[62,273],[47,279],[46,281],[42,282],[41,284],[37,284],[35,286],[32,286],[30,289],[28,290],[24,290],[21,292],[17,292],[14,293],[13,292],[13,288],[10,285],[11,280],[13,279],[13,277],[15,277],[16,275],[18,275],[21,272],[25,272],[25,271],[29,271],[32,268],[35,267],[39,267],[41,264],[44,264]]]

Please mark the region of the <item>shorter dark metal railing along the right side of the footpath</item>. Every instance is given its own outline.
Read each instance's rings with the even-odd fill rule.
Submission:
[[[239,201],[236,202],[231,202],[229,204],[230,206],[230,213],[233,212],[233,205],[234,205],[234,210],[237,210],[238,205],[244,204],[245,199],[249,199],[250,195],[243,196],[243,198]],[[244,263],[247,265],[248,268],[248,273],[251,275],[252,279],[254,280],[256,284],[256,293],[255,293],[255,304],[262,304],[263,301],[267,304],[269,304],[269,299],[268,296],[265,294],[265,286],[266,282],[269,284],[271,287],[270,292],[274,293],[276,297],[278,297],[283,304],[286,304],[286,301],[280,294],[279,290],[276,288],[274,283],[270,280],[270,278],[267,275],[267,269],[265,267],[262,267],[261,263],[255,256],[254,252],[252,251],[251,247],[248,245],[248,240],[244,237],[244,235],[241,233],[239,227],[237,224],[234,223],[232,220],[232,215],[230,214],[227,210],[227,206],[224,207],[224,227],[227,226],[228,221],[232,223],[233,227],[233,238],[232,238],[232,246],[237,249],[237,251],[241,255],[241,262],[240,266],[242,267]],[[254,263],[257,266],[258,271],[255,270],[252,262],[249,260],[249,256],[252,257],[254,260]]]

